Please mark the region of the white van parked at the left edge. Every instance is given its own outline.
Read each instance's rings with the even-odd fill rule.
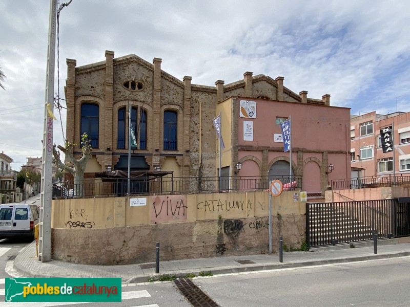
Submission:
[[[32,237],[34,226],[39,222],[36,205],[0,205],[0,239],[10,237]]]

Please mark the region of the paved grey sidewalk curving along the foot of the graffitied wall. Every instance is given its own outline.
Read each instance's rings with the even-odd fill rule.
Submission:
[[[355,246],[356,248],[335,249],[343,247],[340,245],[310,252],[284,252],[282,263],[279,262],[278,253],[160,261],[159,274],[155,274],[155,250],[152,253],[154,262],[149,264],[93,266],[59,260],[40,262],[33,242],[17,255],[13,267],[25,277],[120,277],[122,283],[131,283],[147,282],[149,277],[165,274],[181,277],[211,271],[213,275],[217,275],[410,256],[410,243],[397,244],[397,239],[379,240],[377,254],[374,254],[373,243]]]

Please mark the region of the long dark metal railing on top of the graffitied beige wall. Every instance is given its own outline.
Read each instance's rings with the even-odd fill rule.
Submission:
[[[250,192],[269,189],[270,181],[280,180],[284,190],[298,190],[302,186],[302,178],[290,177],[140,177],[130,180],[129,195],[156,194],[192,194],[212,192]],[[66,181],[53,185],[53,197],[67,198],[98,198],[127,196],[128,180],[126,178],[95,178],[82,181]]]

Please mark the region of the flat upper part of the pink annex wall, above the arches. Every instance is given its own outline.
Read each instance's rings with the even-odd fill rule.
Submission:
[[[238,101],[240,101],[238,97]],[[249,100],[249,98],[247,99]],[[256,118],[238,118],[238,145],[283,148],[274,142],[274,134],[281,134],[276,117],[291,115],[292,147],[312,150],[343,150],[347,145],[347,129],[350,133],[350,110],[344,107],[319,106],[305,103],[255,100]],[[243,121],[254,123],[254,140],[243,141]]]

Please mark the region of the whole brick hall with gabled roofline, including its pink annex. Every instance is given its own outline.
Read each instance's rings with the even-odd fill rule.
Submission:
[[[350,110],[330,106],[330,95],[311,99],[306,91],[296,94],[286,88],[283,77],[251,72],[230,84],[217,80],[215,86],[198,85],[192,77],[181,81],[162,71],[159,58],[149,63],[133,54],[114,58],[114,52],[106,51],[105,56],[105,61],[80,67],[76,60],[67,59],[67,139],[77,144],[74,151],[79,156],[80,135],[87,131],[93,147],[88,173],[108,167],[127,170],[131,105],[137,139],[132,170],[160,167],[174,171],[174,177],[217,176],[218,139],[212,120],[223,111],[222,169],[230,176],[238,176],[239,160],[243,163],[240,176],[271,175],[276,162],[288,163],[289,168],[289,153],[283,152],[283,143],[274,141],[274,134],[280,133],[275,121],[292,115],[295,176],[303,176],[305,185],[316,182],[309,188],[312,191],[323,190],[329,176],[350,177]],[[260,106],[260,116],[252,119],[253,141],[242,137],[241,99]],[[329,163],[335,165],[331,174]]]

